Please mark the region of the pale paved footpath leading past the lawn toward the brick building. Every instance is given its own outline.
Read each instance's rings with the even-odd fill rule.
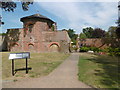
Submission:
[[[3,83],[3,88],[91,88],[78,81],[78,60],[79,53],[72,53],[49,75]]]

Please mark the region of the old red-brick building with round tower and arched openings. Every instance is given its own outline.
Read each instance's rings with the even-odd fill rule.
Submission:
[[[40,14],[23,17],[23,28],[7,30],[8,51],[69,52],[67,31],[57,31],[51,19]]]

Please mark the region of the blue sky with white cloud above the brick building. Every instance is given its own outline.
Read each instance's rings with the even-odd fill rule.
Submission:
[[[2,10],[2,31],[6,32],[10,28],[22,28],[23,23],[20,18],[39,13],[57,23],[58,30],[74,29],[76,33],[81,33],[85,27],[102,28],[108,30],[110,26],[116,26],[118,19],[118,2],[78,2],[78,0],[61,2],[34,2],[29,6],[28,11],[23,11],[21,3],[17,2],[14,12]]]

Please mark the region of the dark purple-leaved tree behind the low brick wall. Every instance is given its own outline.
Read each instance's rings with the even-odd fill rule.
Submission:
[[[92,38],[102,38],[105,37],[105,31],[101,28],[95,28],[92,33]]]

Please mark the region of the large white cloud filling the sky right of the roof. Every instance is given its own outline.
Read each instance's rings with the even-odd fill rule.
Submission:
[[[115,23],[118,14],[117,2],[40,2],[39,5],[63,22],[67,21],[66,27],[75,29],[77,33],[80,33],[85,26],[108,28]]]

